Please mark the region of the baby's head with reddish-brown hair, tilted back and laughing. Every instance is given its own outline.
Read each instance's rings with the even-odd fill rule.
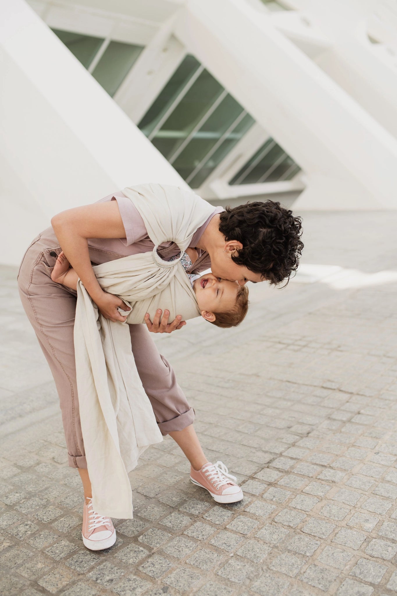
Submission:
[[[207,273],[195,280],[193,290],[201,316],[217,327],[236,327],[248,311],[248,288],[237,281]]]

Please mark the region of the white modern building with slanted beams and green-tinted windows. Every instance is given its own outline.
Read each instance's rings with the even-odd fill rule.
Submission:
[[[396,0],[0,0],[0,262],[140,182],[396,209]]]

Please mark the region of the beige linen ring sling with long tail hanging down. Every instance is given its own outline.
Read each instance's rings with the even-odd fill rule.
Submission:
[[[74,324],[76,376],[93,508],[99,514],[132,518],[127,473],[149,445],[162,440],[151,403],[133,358],[127,323],[142,323],[146,312],[168,308],[170,320],[199,316],[195,294],[179,260],[162,261],[156,247],[174,241],[185,250],[214,208],[189,191],[159,184],[129,187],[133,202],[155,245],[153,253],[133,254],[93,267],[101,287],[132,306],[126,323],[102,316],[85,287],[77,284]]]

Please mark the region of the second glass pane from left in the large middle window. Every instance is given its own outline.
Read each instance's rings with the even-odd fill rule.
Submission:
[[[207,70],[203,70],[159,131],[162,136],[174,138],[174,145],[166,156],[167,159],[170,159],[222,92],[223,86]],[[176,132],[180,135],[176,135]]]

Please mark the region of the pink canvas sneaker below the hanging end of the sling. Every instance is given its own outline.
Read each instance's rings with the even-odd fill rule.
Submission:
[[[116,541],[116,531],[110,517],[100,516],[92,508],[92,499],[86,498],[83,509],[83,542],[91,551],[102,551]]]

